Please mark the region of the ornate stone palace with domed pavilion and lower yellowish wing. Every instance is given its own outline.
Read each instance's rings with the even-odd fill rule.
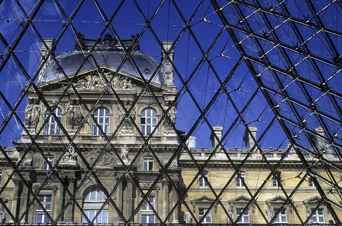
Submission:
[[[82,50],[96,40],[80,37],[73,52],[44,66],[37,84],[43,98],[30,90],[21,140],[1,156],[2,222],[334,221],[331,209],[317,207],[315,184],[328,175],[317,171],[310,178],[291,146],[263,148],[261,154],[254,145],[256,127],[246,131],[243,148],[220,148],[216,137],[221,139],[221,126],[213,127],[211,148],[180,145],[169,61],[173,52],[169,59],[162,52],[158,63],[140,52],[137,35],[119,44],[107,34],[95,46],[93,58],[84,61]],[[131,51],[131,59],[124,59],[122,45]],[[172,43],[163,45],[168,51]],[[324,157],[336,158],[322,140],[315,141],[326,148]],[[11,162],[17,163],[19,174],[12,173]],[[244,167],[234,169],[232,163]],[[336,164],[341,165],[338,158]],[[287,194],[298,185],[287,202]],[[251,201],[253,195],[257,201]],[[340,203],[332,194],[329,198]]]

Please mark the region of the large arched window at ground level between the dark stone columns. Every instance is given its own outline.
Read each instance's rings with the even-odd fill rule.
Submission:
[[[92,221],[97,212],[102,207],[106,200],[106,195],[100,188],[91,188],[84,195],[83,211],[90,221]],[[83,217],[83,223],[88,223],[86,218]],[[94,220],[94,224],[108,223],[108,204],[102,209]]]

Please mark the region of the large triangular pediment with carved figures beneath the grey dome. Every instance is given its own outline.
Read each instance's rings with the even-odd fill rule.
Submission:
[[[111,68],[106,65],[100,66],[101,71],[106,76],[107,81],[110,82],[110,87],[108,88],[109,92],[111,88],[116,92],[140,92],[144,87],[144,81],[142,78],[129,74],[123,71],[117,71],[116,68]],[[75,78],[74,78],[75,77]],[[106,80],[103,78],[102,73],[97,68],[91,68],[84,71],[81,71],[76,74],[71,74],[65,77],[61,77],[55,80],[51,80],[47,83],[42,83],[38,85],[42,91],[58,91],[63,90],[68,84],[69,81],[73,78],[73,85],[76,90],[80,92],[87,91],[103,91],[103,89],[107,86]],[[68,81],[69,80],[69,81]],[[148,82],[146,80],[146,82]],[[175,92],[174,89],[160,85],[158,83],[151,82],[149,85],[154,92]]]

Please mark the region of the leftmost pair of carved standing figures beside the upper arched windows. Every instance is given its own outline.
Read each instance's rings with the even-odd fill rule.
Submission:
[[[25,126],[27,129],[36,130],[40,115],[38,99],[28,99],[25,109]]]

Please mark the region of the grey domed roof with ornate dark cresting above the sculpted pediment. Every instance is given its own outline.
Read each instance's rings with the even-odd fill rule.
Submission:
[[[95,39],[84,38],[82,38],[82,40],[84,41],[84,43],[86,43],[87,47],[91,47],[93,45],[93,42],[95,41]],[[115,40],[116,39],[111,38],[111,36],[108,37],[107,34],[107,37],[105,37],[96,45],[96,48],[92,52],[92,56],[94,57],[98,65],[106,65],[115,69],[117,69],[120,66],[120,64],[125,58],[125,54],[122,51],[122,49],[118,48],[118,43],[115,42]],[[129,48],[132,45],[134,39],[132,36],[132,39],[125,39],[122,41],[125,47],[127,45],[127,47]],[[131,43],[129,43],[129,41]],[[86,52],[79,50],[81,50],[80,47],[75,45],[75,51],[66,52],[56,57],[56,60],[58,61],[66,75],[76,73],[79,67],[81,66]],[[140,52],[139,45],[136,45],[135,49],[131,52],[130,56],[136,64],[137,68],[139,68],[140,72],[143,74],[144,78],[146,80],[150,79],[152,74],[158,67],[158,62],[148,54]],[[96,66],[92,59],[89,57],[87,62],[84,63],[80,71],[91,68],[96,68]],[[130,60],[126,60],[124,62],[123,66],[120,68],[120,71],[127,72],[140,78],[140,75],[135,69],[133,62],[131,62]],[[50,61],[42,69],[39,75],[38,84],[49,82],[51,80],[55,80],[62,77],[63,73],[61,69],[58,68],[55,61]],[[165,74],[162,70],[158,71],[153,82],[158,83],[160,85],[166,85]]]

